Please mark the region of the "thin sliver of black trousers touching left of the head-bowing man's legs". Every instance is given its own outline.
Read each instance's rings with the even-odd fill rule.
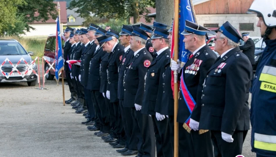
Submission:
[[[113,108],[113,104],[110,103],[110,100],[107,99],[106,97],[106,92],[105,92],[105,105],[107,108],[107,112],[109,114],[109,124],[110,124],[110,135],[113,138],[117,138],[116,132],[115,132],[115,113],[114,113],[114,108]]]

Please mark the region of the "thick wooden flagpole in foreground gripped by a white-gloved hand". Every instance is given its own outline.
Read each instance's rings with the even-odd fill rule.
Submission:
[[[178,32],[179,32],[179,0],[174,0],[174,56],[173,60],[178,60]],[[174,157],[178,157],[178,122],[176,122],[178,111],[178,83],[177,70],[173,72],[174,75]]]

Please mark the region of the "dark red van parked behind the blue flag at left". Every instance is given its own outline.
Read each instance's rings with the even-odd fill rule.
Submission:
[[[55,43],[56,43],[55,37],[56,37],[56,34],[49,35],[46,40],[45,48],[44,48],[44,57],[46,58],[46,60],[49,61],[51,65],[53,64],[53,62],[55,62]],[[64,35],[61,35],[61,39],[62,39],[62,49],[63,49],[66,38],[64,37]],[[44,62],[44,70],[45,70],[44,72],[47,72],[49,68],[50,68],[50,65],[47,62]],[[53,65],[53,68],[55,68],[55,64]],[[55,76],[55,71],[53,69],[50,69],[45,77],[47,80],[53,80],[54,76]],[[63,73],[63,77],[66,78],[65,72]]]

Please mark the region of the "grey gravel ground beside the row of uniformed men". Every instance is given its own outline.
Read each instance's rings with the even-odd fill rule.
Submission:
[[[70,97],[65,84],[65,98]],[[38,85],[37,85],[38,87]],[[62,85],[46,80],[45,88],[27,83],[0,84],[0,157],[116,157],[120,156],[80,122],[84,117],[62,104]],[[251,98],[250,98],[251,99]],[[250,134],[243,155],[250,151]]]

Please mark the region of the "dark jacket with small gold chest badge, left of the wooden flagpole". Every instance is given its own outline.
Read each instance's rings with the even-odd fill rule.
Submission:
[[[153,59],[150,67],[148,67],[145,81],[145,92],[142,105],[143,107],[141,110],[142,114],[155,115],[155,105],[160,105],[156,104],[156,101],[157,94],[163,93],[162,88],[159,89],[159,82],[163,80],[160,80],[160,75],[162,76],[161,69],[162,66],[164,66],[164,62],[166,63],[169,59],[171,59],[170,53],[171,51],[169,50],[169,48],[165,49],[155,59]]]

